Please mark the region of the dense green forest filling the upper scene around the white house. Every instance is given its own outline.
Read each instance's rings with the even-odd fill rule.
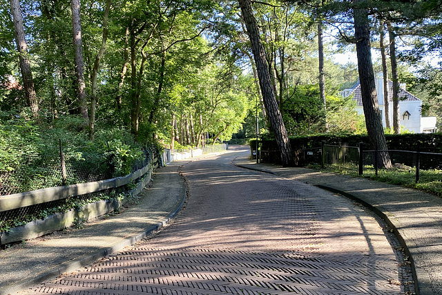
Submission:
[[[256,120],[261,136],[282,125],[281,136],[368,133],[377,144],[400,126],[367,123],[375,72],[406,82],[442,121],[440,1],[0,4],[1,171],[49,139],[177,149],[254,137]],[[340,95],[358,79],[365,121]]]

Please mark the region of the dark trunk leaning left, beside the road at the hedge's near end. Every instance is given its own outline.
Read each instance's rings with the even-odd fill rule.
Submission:
[[[275,92],[273,90],[269,73],[269,66],[266,62],[265,50],[261,44],[256,19],[253,17],[251,2],[250,0],[238,0],[238,2],[240,3],[242,17],[251,41],[256,70],[258,71],[258,77],[260,80],[262,98],[264,99],[267,114],[269,115],[271,128],[276,137],[276,143],[280,149],[282,165],[289,166],[292,163],[289,136],[285,129],[284,122],[282,121],[282,115],[279,111],[278,103],[276,102]]]

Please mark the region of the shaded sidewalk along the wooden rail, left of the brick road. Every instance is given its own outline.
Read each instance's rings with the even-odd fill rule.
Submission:
[[[184,204],[185,188],[173,163],[154,174],[150,189],[122,213],[0,250],[0,294],[15,294],[122,250],[165,225]]]

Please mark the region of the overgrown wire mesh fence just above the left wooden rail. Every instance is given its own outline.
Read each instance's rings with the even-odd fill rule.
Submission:
[[[0,171],[0,198],[23,191],[123,176],[146,166],[154,155],[158,155],[157,149],[149,146],[141,150],[135,161],[124,162],[112,149],[96,153],[72,146],[62,148],[60,140],[57,144],[50,144],[42,153],[23,152],[21,162],[26,164],[15,166],[10,171]]]

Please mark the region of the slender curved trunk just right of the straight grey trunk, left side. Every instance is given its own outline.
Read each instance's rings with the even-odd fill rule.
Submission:
[[[95,113],[97,107],[97,76],[98,76],[99,63],[102,60],[104,52],[106,51],[106,41],[108,39],[108,15],[109,15],[109,10],[111,10],[111,3],[112,0],[106,1],[106,8],[104,9],[103,26],[102,26],[103,27],[102,47],[99,48],[99,51],[97,53],[97,56],[95,57],[94,65],[92,68],[92,77],[91,77],[92,93],[90,97],[90,117],[89,117],[90,138],[93,138],[95,132]]]

